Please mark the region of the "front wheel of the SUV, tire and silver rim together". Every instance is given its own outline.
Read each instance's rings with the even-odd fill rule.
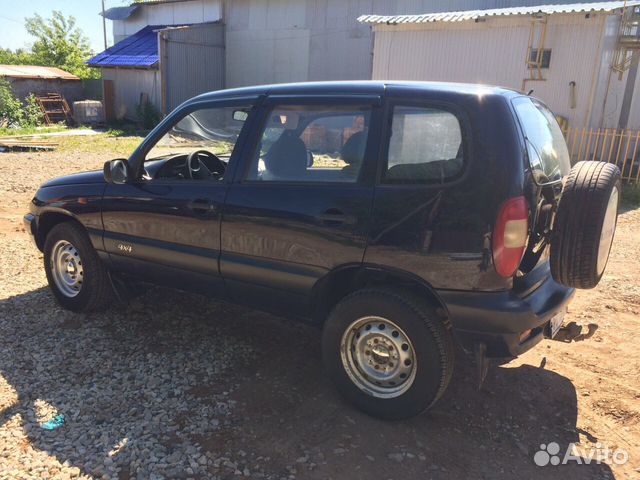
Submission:
[[[68,310],[101,310],[113,302],[107,269],[87,233],[76,223],[60,223],[48,233],[44,268],[53,295]]]

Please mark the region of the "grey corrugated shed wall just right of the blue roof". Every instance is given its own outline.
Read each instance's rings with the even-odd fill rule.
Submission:
[[[166,30],[160,41],[165,45],[161,70],[167,113],[200,93],[224,88],[224,25],[211,23]]]

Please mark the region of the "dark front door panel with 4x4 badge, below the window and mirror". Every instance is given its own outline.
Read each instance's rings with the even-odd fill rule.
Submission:
[[[227,185],[189,182],[150,182],[108,185],[102,218],[104,245],[113,266],[125,271],[131,260],[143,260],[219,279],[220,212]],[[206,199],[215,208],[189,208]]]

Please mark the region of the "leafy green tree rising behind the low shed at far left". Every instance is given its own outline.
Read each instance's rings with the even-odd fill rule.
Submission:
[[[25,28],[36,38],[29,63],[58,67],[80,78],[100,76],[99,71],[84,64],[93,52],[87,37],[76,27],[73,16],[65,17],[57,10],[48,19],[35,14],[25,19]]]

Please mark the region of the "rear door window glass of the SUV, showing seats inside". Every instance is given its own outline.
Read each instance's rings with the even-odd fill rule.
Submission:
[[[370,119],[370,106],[275,107],[246,179],[356,182],[364,162]]]

